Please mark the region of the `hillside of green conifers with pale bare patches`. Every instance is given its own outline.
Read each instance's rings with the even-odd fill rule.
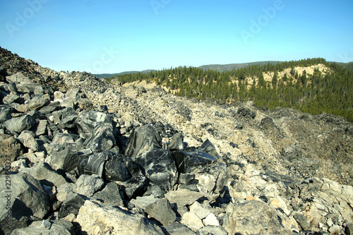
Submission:
[[[252,100],[258,107],[326,112],[353,121],[353,71],[325,59],[258,64],[231,71],[178,67],[117,77],[121,83],[155,81],[179,96],[224,102]]]

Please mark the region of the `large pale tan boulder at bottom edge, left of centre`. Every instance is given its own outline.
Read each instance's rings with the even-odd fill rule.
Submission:
[[[160,227],[141,215],[90,200],[80,207],[76,222],[80,224],[81,231],[87,234],[164,234]]]

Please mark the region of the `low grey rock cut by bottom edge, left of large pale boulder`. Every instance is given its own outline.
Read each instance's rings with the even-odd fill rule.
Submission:
[[[48,234],[48,235],[72,235],[75,231],[73,224],[64,220],[40,220],[30,224],[29,227],[23,229],[14,229],[11,235],[28,235],[28,234]]]

